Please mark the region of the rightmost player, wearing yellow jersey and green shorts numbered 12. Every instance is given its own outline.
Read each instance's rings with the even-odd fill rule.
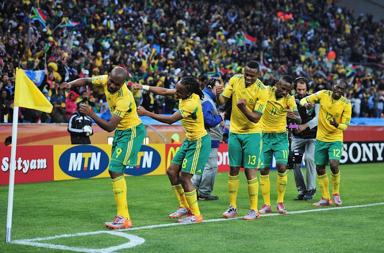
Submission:
[[[335,205],[342,205],[339,194],[340,171],[338,163],[343,153],[343,131],[351,122],[351,103],[343,96],[348,83],[344,79],[337,79],[332,91],[318,91],[300,100],[307,110],[313,108],[314,103],[320,105],[315,146],[315,164],[317,179],[323,197],[314,206],[332,205],[329,194],[329,180],[325,166],[329,162],[331,167],[331,181],[333,186],[332,198]]]

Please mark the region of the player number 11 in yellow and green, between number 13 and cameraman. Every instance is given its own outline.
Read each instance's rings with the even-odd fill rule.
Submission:
[[[263,155],[264,168],[260,169],[260,188],[263,193],[264,205],[259,210],[260,214],[272,213],[269,181],[269,167],[272,155],[276,159],[278,167],[278,200],[276,208],[281,214],[287,213],[284,206],[285,187],[287,185],[287,162],[289,142],[286,131],[287,118],[300,124],[302,119],[298,114],[296,102],[288,93],[292,90],[292,77],[284,75],[276,83],[275,87],[267,86],[268,103],[263,121]]]

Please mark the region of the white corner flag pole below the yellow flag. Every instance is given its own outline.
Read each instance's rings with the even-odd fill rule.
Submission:
[[[11,242],[11,236],[12,236],[13,189],[15,184],[15,170],[16,170],[17,123],[18,123],[18,106],[15,106],[13,108],[13,121],[12,121],[11,166],[9,167],[7,230],[5,235],[6,242]]]

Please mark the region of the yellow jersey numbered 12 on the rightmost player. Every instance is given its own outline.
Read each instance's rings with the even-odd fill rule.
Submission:
[[[316,139],[324,142],[343,141],[343,130],[329,123],[332,117],[335,117],[337,123],[349,125],[351,122],[351,102],[344,96],[334,100],[332,94],[332,91],[322,90],[306,97],[308,103],[320,105]]]

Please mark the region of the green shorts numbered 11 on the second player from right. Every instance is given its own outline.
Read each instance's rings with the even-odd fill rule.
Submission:
[[[263,155],[266,167],[272,162],[272,155],[276,163],[288,163],[289,142],[287,133],[263,133]]]

